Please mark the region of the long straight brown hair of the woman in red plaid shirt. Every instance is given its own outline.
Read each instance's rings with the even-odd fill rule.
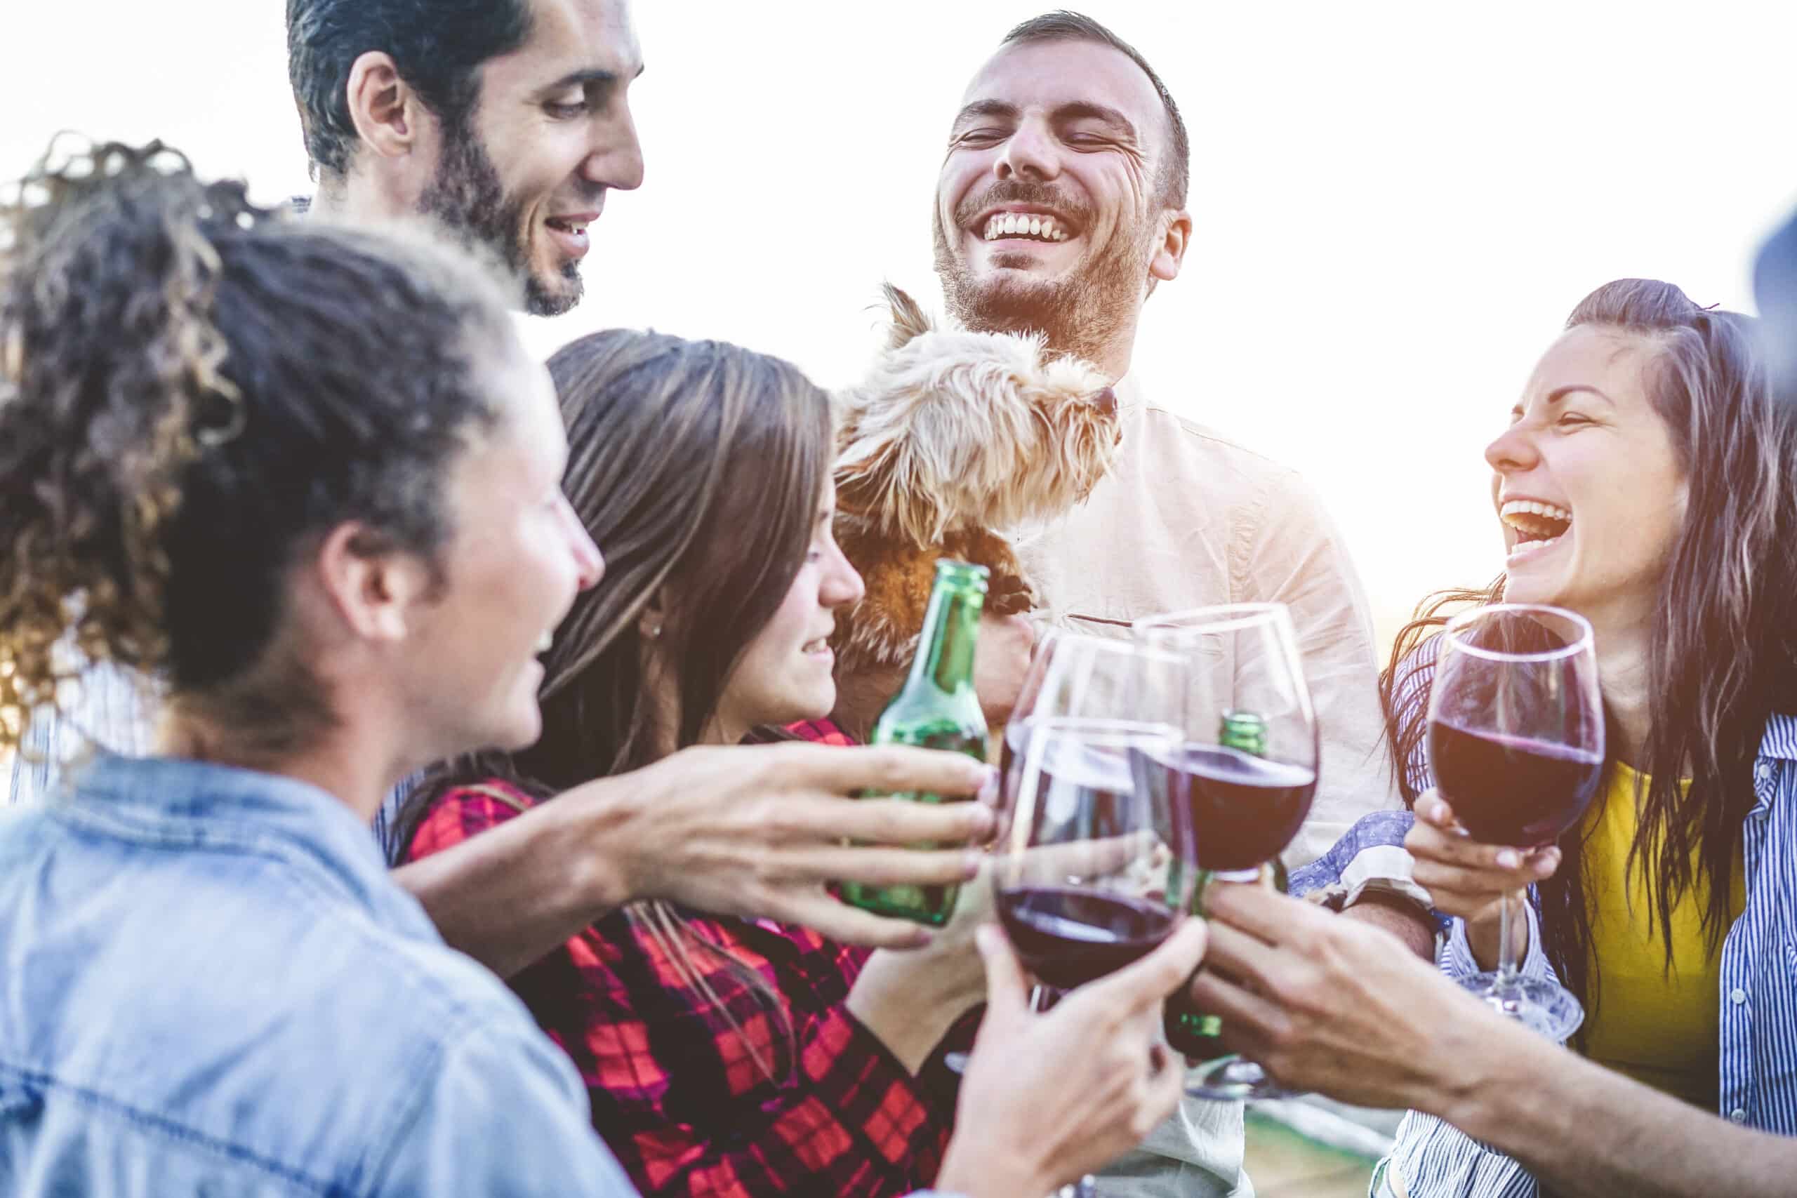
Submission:
[[[731,670],[778,611],[818,521],[832,451],[830,401],[791,363],[721,341],[609,330],[548,363],[568,426],[568,501],[606,557],[544,656],[543,736],[518,753],[482,753],[429,771],[395,835],[404,859],[428,810],[458,785],[501,778],[539,799],[622,774],[699,742]],[[676,663],[677,706],[651,699],[640,625],[651,602],[661,659]],[[721,957],[785,1031],[767,981],[706,939],[668,903],[625,907],[742,1035],[690,959]]]

